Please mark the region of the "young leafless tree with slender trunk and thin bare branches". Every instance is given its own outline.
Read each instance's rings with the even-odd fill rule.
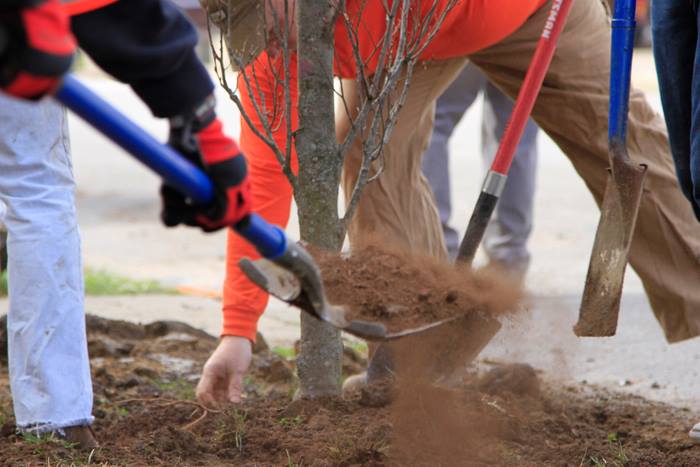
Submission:
[[[235,28],[230,12],[235,0],[201,0],[209,18],[219,27],[221,39],[213,45],[214,61],[221,85],[251,125],[230,85],[230,64],[240,69],[237,85],[250,95],[258,95],[259,83],[254,66],[246,67],[246,57],[236,52]],[[283,67],[275,76],[281,98],[274,102],[254,102],[255,117],[263,128],[255,133],[272,149],[293,187],[299,213],[302,240],[330,251],[340,251],[348,224],[359,202],[362,189],[379,177],[383,169],[382,147],[391,131],[411,82],[413,68],[420,54],[433,38],[445,15],[457,0],[260,0],[267,11],[266,37],[278,44]],[[348,14],[348,4],[359,10]],[[377,41],[376,63],[369,65],[361,56],[359,34],[362,12],[368,2],[381,2],[386,29]],[[283,7],[274,8],[282,4]],[[281,18],[279,15],[283,15]],[[347,31],[353,48],[354,69],[359,95],[346,96],[343,86],[334,86],[333,42],[338,21]],[[297,34],[296,50],[290,37]],[[211,37],[211,34],[210,34]],[[294,41],[292,41],[294,42]],[[225,53],[224,44],[228,45]],[[291,64],[296,54],[298,88],[290,85]],[[298,93],[298,128],[293,128],[292,98]],[[347,136],[336,141],[334,99],[341,103],[352,122]],[[277,118],[278,116],[284,118]],[[273,132],[275,122],[285,122],[286,141],[279,145]],[[351,144],[362,147],[362,163],[351,195],[345,200],[345,212],[338,212],[338,187],[343,160]],[[298,175],[290,160],[292,144],[299,161]],[[302,313],[301,353],[297,360],[302,397],[338,395],[340,393],[342,344],[333,327]]]

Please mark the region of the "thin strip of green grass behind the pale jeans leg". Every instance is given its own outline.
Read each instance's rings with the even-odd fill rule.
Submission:
[[[177,294],[154,280],[130,279],[104,270],[85,269],[85,295]],[[0,275],[0,296],[7,296],[7,271]]]

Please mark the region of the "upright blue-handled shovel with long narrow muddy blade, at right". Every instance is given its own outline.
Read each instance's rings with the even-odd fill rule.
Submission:
[[[646,165],[630,160],[626,141],[635,8],[635,0],[615,1],[608,117],[610,176],[600,208],[600,223],[588,266],[579,320],[574,326],[577,336],[613,336],[617,331],[627,255],[642,198]]]

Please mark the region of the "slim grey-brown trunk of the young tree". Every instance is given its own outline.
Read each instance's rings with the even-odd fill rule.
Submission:
[[[299,208],[301,238],[340,251],[337,156],[333,111],[333,11],[329,1],[297,0],[299,129]],[[340,333],[301,314],[301,352],[297,359],[301,397],[340,394]]]

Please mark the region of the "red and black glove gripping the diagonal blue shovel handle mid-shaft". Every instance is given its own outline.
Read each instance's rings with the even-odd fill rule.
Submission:
[[[236,142],[224,134],[213,107],[171,119],[170,125],[169,144],[204,170],[214,185],[215,199],[206,206],[195,205],[163,184],[163,223],[168,227],[199,226],[213,232],[244,219],[251,209],[247,164]]]

